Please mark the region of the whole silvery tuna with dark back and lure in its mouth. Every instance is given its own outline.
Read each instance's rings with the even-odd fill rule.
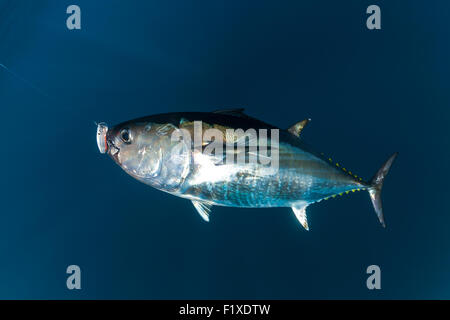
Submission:
[[[166,113],[112,128],[100,123],[97,144],[100,152],[108,153],[133,178],[192,201],[205,221],[214,205],[290,207],[309,230],[306,208],[310,204],[367,190],[385,227],[380,195],[397,153],[366,182],[302,139],[308,122],[283,130],[246,115],[243,109]],[[197,124],[214,134],[201,131],[198,140]],[[247,134],[250,130],[260,136]],[[262,139],[262,133],[269,131],[270,139]],[[224,147],[212,148],[214,144]],[[208,148],[214,151],[206,152]],[[239,156],[244,161],[237,161]],[[256,161],[249,161],[252,157]]]

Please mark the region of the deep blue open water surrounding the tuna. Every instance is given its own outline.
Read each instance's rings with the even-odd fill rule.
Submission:
[[[448,1],[0,1],[0,298],[450,298],[449,20]],[[94,121],[232,107],[312,118],[306,141],[367,179],[399,151],[387,229],[362,192],[310,206],[309,232],[287,208],[207,224],[97,149]]]

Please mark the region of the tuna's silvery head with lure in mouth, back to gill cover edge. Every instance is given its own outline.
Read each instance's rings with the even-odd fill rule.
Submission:
[[[157,121],[157,122],[156,122]],[[191,142],[170,122],[146,117],[108,128],[97,128],[100,152],[108,155],[130,176],[154,188],[176,192],[189,173]]]

